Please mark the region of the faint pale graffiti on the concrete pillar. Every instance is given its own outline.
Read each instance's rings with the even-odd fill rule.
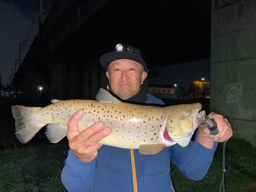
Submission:
[[[238,95],[241,92],[242,85],[236,82],[228,84],[225,88],[226,103],[233,103],[238,100]]]

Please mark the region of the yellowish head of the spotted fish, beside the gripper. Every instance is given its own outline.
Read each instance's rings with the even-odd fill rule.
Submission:
[[[166,129],[170,139],[185,147],[193,133],[205,117],[205,111],[200,111],[202,104],[180,104],[169,111]],[[170,108],[171,109],[171,108]]]

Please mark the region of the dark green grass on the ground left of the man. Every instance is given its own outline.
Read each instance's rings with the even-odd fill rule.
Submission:
[[[68,144],[7,149],[0,154],[1,191],[67,191],[60,174]]]

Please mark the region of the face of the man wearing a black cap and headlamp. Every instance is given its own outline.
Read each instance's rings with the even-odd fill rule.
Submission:
[[[126,100],[139,93],[147,73],[140,63],[119,59],[110,63],[106,76],[109,78],[113,93]]]

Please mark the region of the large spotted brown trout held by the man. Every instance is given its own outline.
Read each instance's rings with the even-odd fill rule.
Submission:
[[[96,100],[57,100],[41,107],[11,106],[18,140],[27,143],[45,125],[52,143],[67,136],[68,122],[79,110],[84,115],[78,122],[78,132],[103,121],[112,133],[98,143],[139,149],[144,155],[156,154],[163,147],[188,145],[193,133],[205,117],[200,103],[172,106],[149,106],[122,102],[100,88]]]

